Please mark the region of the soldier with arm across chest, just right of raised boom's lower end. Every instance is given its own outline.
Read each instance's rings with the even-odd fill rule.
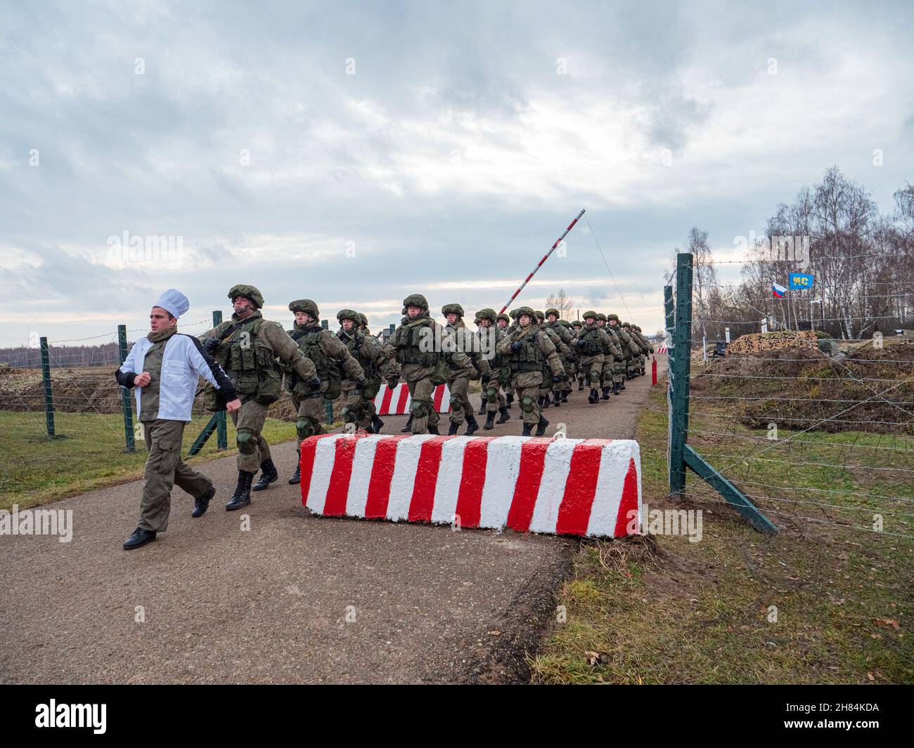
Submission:
[[[565,370],[558,358],[556,346],[545,332],[537,329],[533,310],[521,307],[517,310],[517,322],[515,332],[506,335],[495,350],[510,363],[512,385],[524,418],[523,436],[529,437],[531,429],[536,425],[537,437],[541,437],[549,425],[537,404],[539,386],[543,382],[543,367],[549,367],[553,381],[564,378]]]

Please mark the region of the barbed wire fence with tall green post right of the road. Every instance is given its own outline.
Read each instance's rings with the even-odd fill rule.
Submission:
[[[664,289],[671,498],[725,515],[729,507],[762,532],[823,543],[831,550],[816,574],[831,573],[830,553],[856,553],[861,587],[909,579],[914,339],[877,332],[838,345],[817,337],[812,311],[809,331],[781,321],[769,335],[760,324],[746,330],[751,307],[736,321],[693,318],[692,275],[693,256],[679,254]],[[728,325],[748,338],[727,335],[723,355],[692,340],[696,329],[723,340]],[[810,582],[784,572],[791,584]]]

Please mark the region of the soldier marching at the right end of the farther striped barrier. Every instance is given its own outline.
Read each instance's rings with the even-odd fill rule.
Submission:
[[[448,321],[444,327],[442,346],[444,361],[451,370],[448,377],[448,388],[451,390],[451,427],[448,434],[456,434],[466,420],[464,436],[469,437],[479,430],[479,422],[473,416],[468,396],[470,380],[489,374],[489,362],[477,348],[479,339],[463,322],[463,307],[460,304],[445,304],[441,307],[441,314]]]

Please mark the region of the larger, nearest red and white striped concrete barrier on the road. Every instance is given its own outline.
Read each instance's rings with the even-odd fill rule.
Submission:
[[[302,503],[327,517],[590,537],[641,521],[631,439],[326,434],[302,442],[301,470]]]

